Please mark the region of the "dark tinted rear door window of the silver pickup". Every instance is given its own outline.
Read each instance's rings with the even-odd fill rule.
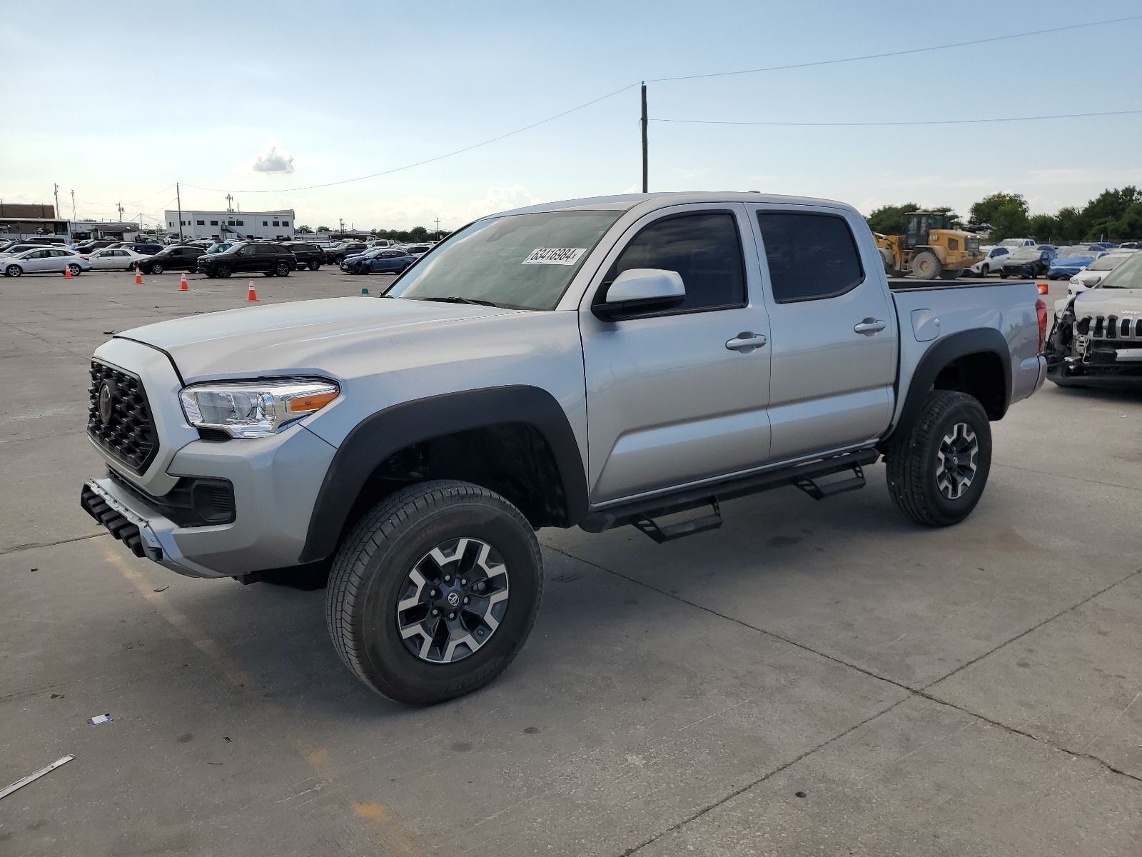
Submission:
[[[758,211],[779,304],[843,295],[864,280],[852,230],[837,215]]]

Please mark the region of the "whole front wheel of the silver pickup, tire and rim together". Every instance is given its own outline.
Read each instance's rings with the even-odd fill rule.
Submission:
[[[431,705],[512,663],[539,610],[536,534],[469,482],[403,488],[369,512],[333,560],[325,618],[337,654],[378,694]]]

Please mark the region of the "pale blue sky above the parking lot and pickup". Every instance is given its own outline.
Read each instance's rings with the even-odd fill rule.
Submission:
[[[50,16],[48,10],[50,9]],[[638,89],[413,169],[642,79],[920,48],[1142,14],[1137,1],[0,2],[0,199],[80,216],[295,208],[312,226],[456,227],[636,189]],[[71,22],[57,27],[53,22]],[[650,85],[652,119],[917,121],[1142,109],[1142,21],[912,56]],[[13,89],[11,82],[19,86]],[[1142,114],[774,128],[652,121],[651,190],[759,190],[868,211],[1032,211],[1142,185]],[[254,169],[276,149],[292,173]],[[268,159],[273,162],[273,158]],[[194,185],[206,189],[198,190]],[[250,193],[252,190],[271,191]]]

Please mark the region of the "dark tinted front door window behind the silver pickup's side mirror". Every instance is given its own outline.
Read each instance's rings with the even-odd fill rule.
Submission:
[[[632,239],[606,275],[652,267],[676,271],[686,299],[671,312],[746,305],[746,271],[738,221],[727,211],[701,211],[657,221]]]

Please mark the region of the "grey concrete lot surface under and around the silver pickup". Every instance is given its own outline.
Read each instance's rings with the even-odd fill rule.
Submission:
[[[80,510],[91,351],[246,305],[145,279],[0,280],[0,786],[75,754],[0,801],[0,854],[1142,854],[1142,394],[1016,405],[949,529],[878,465],[668,545],[544,530],[521,656],[408,708],[341,666],[324,592],[179,577]]]

